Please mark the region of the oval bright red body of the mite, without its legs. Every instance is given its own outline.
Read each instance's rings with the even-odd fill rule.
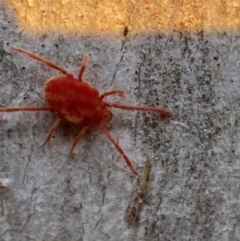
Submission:
[[[99,125],[112,118],[99,92],[88,82],[57,76],[46,82],[44,92],[52,110],[70,122]]]

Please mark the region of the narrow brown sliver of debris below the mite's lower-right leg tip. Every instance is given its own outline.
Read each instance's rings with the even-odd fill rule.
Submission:
[[[149,157],[147,157],[143,174],[139,176],[137,192],[131,201],[130,205],[126,211],[126,221],[131,226],[137,226],[139,222],[139,212],[142,207],[143,198],[145,196],[147,185],[149,182],[149,177],[151,173],[151,162]]]

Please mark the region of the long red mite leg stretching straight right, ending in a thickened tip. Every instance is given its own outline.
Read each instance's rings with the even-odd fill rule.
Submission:
[[[149,106],[134,106],[134,105],[123,105],[118,103],[107,103],[108,107],[114,107],[124,110],[137,110],[137,111],[150,111],[161,114],[162,116],[172,116],[172,111],[165,108],[149,107]]]

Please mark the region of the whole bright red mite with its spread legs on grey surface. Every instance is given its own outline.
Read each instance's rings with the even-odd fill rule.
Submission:
[[[119,95],[122,97],[124,96],[124,91],[110,90],[100,94],[89,82],[84,81],[82,77],[87,66],[88,55],[83,56],[83,62],[78,78],[75,78],[72,74],[47,59],[20,48],[12,47],[12,49],[26,54],[30,58],[43,62],[47,66],[60,71],[63,75],[54,76],[45,83],[44,93],[49,107],[6,107],[0,108],[0,112],[51,111],[57,113],[58,118],[49,131],[46,143],[50,143],[51,137],[62,119],[81,125],[83,128],[78,133],[72,144],[70,155],[73,153],[75,146],[86,130],[90,126],[96,125],[102,130],[107,138],[113,143],[118,152],[123,156],[131,171],[135,175],[138,175],[138,171],[134,168],[130,159],[105,127],[105,124],[108,123],[113,116],[110,109],[113,107],[131,111],[150,111],[159,113],[162,116],[171,116],[172,112],[163,108],[124,105],[104,101],[104,98],[109,95]]]

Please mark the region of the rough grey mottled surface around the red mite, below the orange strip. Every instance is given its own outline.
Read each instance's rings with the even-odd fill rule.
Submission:
[[[63,123],[49,147],[53,114],[1,114],[0,178],[11,181],[0,187],[1,241],[240,240],[239,34],[30,36],[1,3],[0,16],[1,107],[44,105],[44,81],[58,74],[9,48],[17,46],[74,74],[88,53],[84,77],[99,90],[122,88],[125,103],[175,113],[115,110],[108,126],[138,170],[152,160],[134,228],[124,216],[136,179],[99,130],[69,159],[76,126]]]

